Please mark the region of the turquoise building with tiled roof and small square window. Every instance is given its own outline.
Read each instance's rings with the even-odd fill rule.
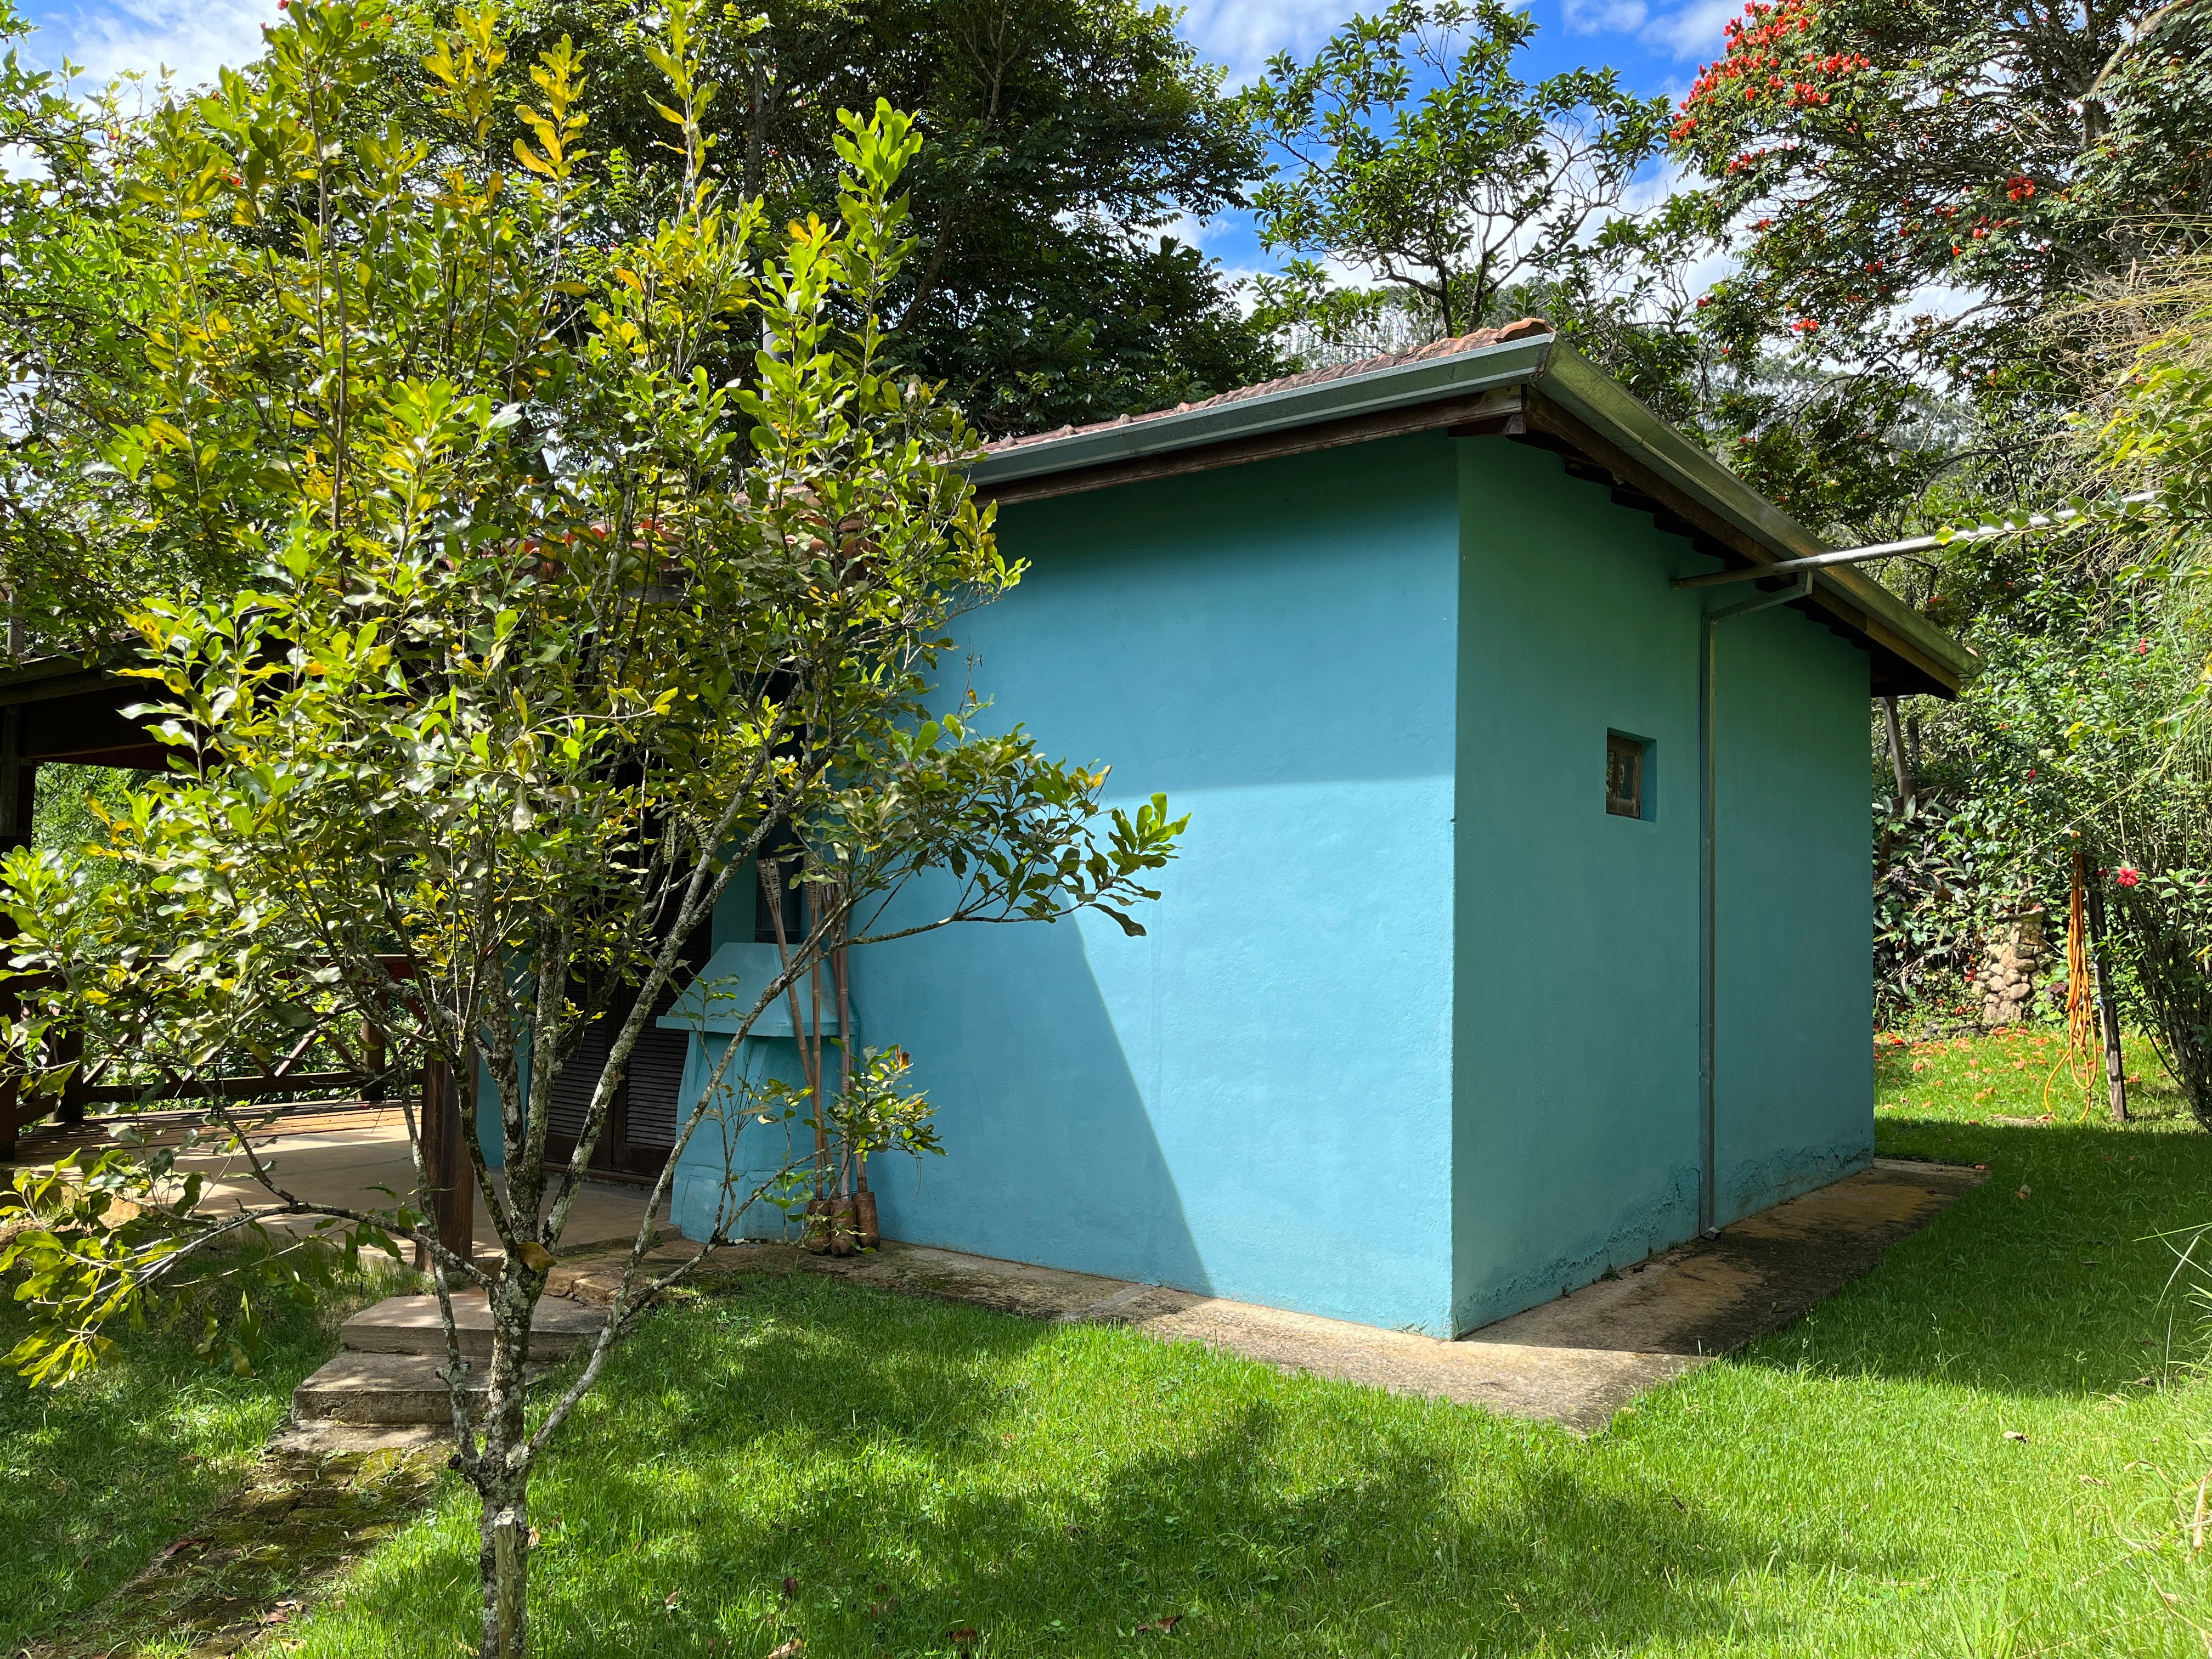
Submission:
[[[1190,830],[1144,938],[858,956],[949,1152],[887,1237],[1451,1336],[1867,1164],[1867,699],[1969,657],[1843,566],[1672,586],[1820,544],[1542,323],[975,484],[973,684]]]

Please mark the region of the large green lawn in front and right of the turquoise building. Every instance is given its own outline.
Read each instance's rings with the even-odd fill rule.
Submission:
[[[535,1648],[2203,1659],[2212,1396],[2150,1234],[2212,1219],[2212,1137],[2170,1091],[1991,1124],[2053,1053],[1885,1051],[1882,1150],[1991,1179],[1588,1440],[807,1276],[675,1307],[538,1484]],[[473,1577],[453,1491],[285,1650],[442,1659]]]

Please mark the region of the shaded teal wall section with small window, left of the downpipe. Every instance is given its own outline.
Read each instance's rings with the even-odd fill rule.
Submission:
[[[1471,1329],[1697,1232],[1699,604],[1668,577],[1705,564],[1542,449],[1460,449],[1453,1323]],[[1608,730],[1650,741],[1648,818],[1606,812]]]

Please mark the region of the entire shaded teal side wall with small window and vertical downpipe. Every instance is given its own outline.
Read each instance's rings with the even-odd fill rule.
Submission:
[[[1462,451],[1453,1139],[1460,1329],[1697,1232],[1699,613],[1688,542],[1544,451]],[[1874,1146],[1867,657],[1719,624],[1717,1221]],[[1644,818],[1606,734],[1650,741]]]

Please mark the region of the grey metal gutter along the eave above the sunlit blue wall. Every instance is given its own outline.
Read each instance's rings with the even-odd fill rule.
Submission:
[[[1287,427],[1305,427],[1316,420],[1383,414],[1385,409],[1402,409],[1416,403],[1438,403],[1495,387],[1526,385],[1544,372],[1544,358],[1553,352],[1553,338],[1551,334],[1537,334],[1526,341],[1478,345],[1473,352],[1427,358],[1422,363],[1396,363],[1369,369],[1367,374],[1347,374],[1336,380],[1263,392],[1254,398],[1234,398],[1230,403],[1212,403],[1161,416],[1139,416],[1124,425],[1071,431],[1060,438],[1035,438],[984,456],[969,478],[978,489],[989,489],[991,484],[1035,478],[1037,473],[1102,467],[1115,460],[1137,460],[1225,438],[1254,438]]]

